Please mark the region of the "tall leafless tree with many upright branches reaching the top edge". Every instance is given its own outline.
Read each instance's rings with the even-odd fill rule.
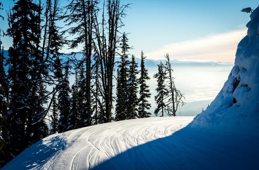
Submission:
[[[113,90],[113,72],[114,57],[117,44],[120,40],[118,37],[119,28],[123,26],[122,18],[126,16],[125,9],[127,5],[120,5],[120,0],[109,0],[104,2],[102,11],[102,20],[98,22],[98,15],[95,13],[95,44],[94,49],[100,62],[101,92],[105,101],[104,122],[111,122],[112,110],[112,90]],[[107,10],[108,16],[105,15]],[[107,17],[107,20],[106,20]]]

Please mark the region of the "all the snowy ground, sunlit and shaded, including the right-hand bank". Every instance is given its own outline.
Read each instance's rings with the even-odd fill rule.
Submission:
[[[50,135],[2,169],[259,169],[259,8],[217,97],[194,117],[154,117]]]

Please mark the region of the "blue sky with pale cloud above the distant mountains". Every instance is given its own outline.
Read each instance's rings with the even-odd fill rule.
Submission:
[[[61,5],[64,5],[62,1]],[[66,1],[67,2],[67,1]],[[130,54],[140,57],[143,50],[149,59],[161,59],[168,52],[170,59],[198,62],[234,63],[239,41],[246,35],[249,13],[243,8],[255,9],[256,0],[121,0],[130,4],[123,18],[125,26],[120,32],[128,33]],[[3,2],[5,10],[13,1]],[[8,23],[1,20],[0,28],[6,30]],[[12,40],[2,38],[5,49]],[[62,52],[81,49],[63,48]]]

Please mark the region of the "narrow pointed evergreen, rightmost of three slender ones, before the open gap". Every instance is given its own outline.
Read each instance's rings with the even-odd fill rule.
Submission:
[[[151,113],[147,112],[151,108],[151,104],[148,102],[148,98],[150,98],[151,93],[148,89],[148,85],[146,80],[149,80],[148,70],[145,68],[144,53],[141,51],[141,64],[140,64],[140,77],[139,77],[139,118],[148,118]]]

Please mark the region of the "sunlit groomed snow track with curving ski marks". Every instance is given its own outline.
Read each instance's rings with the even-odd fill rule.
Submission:
[[[161,117],[118,121],[80,128],[45,139],[60,138],[63,149],[49,156],[44,162],[26,165],[30,169],[91,169],[135,146],[167,137],[184,128],[193,117]],[[55,139],[56,140],[56,139]],[[47,144],[49,150],[56,146]],[[53,147],[53,148],[51,148]]]

